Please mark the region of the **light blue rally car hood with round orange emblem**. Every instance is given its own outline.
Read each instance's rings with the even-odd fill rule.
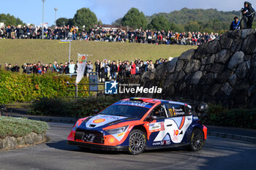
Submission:
[[[124,120],[128,117],[113,116],[113,115],[95,115],[89,120],[82,123],[82,126],[86,128],[98,128],[99,126],[107,125],[109,123],[118,123],[119,120]]]

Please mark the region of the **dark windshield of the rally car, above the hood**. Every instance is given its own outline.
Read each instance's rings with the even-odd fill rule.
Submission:
[[[146,107],[114,104],[102,110],[102,112],[99,112],[99,114],[116,115],[141,119],[143,115],[146,114],[146,112],[148,112],[148,108]]]

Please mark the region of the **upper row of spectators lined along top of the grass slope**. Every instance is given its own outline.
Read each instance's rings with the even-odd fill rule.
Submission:
[[[126,31],[122,28],[102,28],[94,26],[86,31],[75,26],[44,28],[45,39],[73,39],[101,42],[137,42],[153,44],[201,45],[216,39],[218,33],[208,34],[199,31],[173,32],[157,31],[142,28]],[[0,39],[42,39],[42,28],[36,26],[3,26],[0,28]]]

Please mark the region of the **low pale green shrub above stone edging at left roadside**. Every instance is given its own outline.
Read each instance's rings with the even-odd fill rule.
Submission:
[[[45,122],[0,116],[0,139],[6,136],[21,137],[34,132],[40,134],[49,128]]]

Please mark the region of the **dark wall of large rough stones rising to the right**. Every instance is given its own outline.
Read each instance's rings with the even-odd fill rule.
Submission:
[[[225,107],[256,106],[256,30],[227,31],[140,77],[163,88],[156,98],[184,98]]]

